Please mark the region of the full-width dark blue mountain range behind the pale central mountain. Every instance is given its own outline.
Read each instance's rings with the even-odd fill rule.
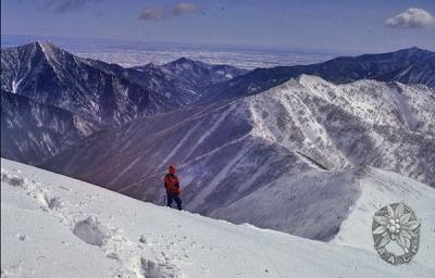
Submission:
[[[22,130],[20,126],[35,122],[38,115],[33,115],[30,110],[23,111],[26,117],[8,118],[15,113],[5,111],[2,115],[7,118],[2,122],[11,124],[9,129],[2,125],[3,132],[20,134],[20,138],[2,140],[2,152],[3,156],[38,165],[87,136],[137,117],[177,110],[198,101],[211,103],[258,93],[301,74],[319,75],[333,83],[370,78],[433,87],[434,59],[433,52],[412,48],[248,72],[183,58],[161,66],[124,68],[75,56],[44,41],[2,49],[1,90],[12,93],[8,99],[17,94],[27,98],[30,105],[22,105],[22,109],[48,105],[44,109],[39,105],[39,114],[44,110],[44,114],[57,122],[62,122],[63,116],[58,119],[55,111],[59,110],[51,108],[60,109],[61,114],[63,111],[72,113],[73,126],[67,134],[78,135],[74,139],[64,138],[53,125],[44,123],[32,131]],[[23,100],[16,98],[13,102]],[[8,110],[8,105],[2,109]],[[22,148],[14,146],[17,140],[23,142]]]

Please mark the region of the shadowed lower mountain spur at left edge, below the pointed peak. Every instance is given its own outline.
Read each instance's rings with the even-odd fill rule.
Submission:
[[[41,163],[79,139],[70,111],[36,103],[16,93],[1,92],[3,157],[28,164]]]

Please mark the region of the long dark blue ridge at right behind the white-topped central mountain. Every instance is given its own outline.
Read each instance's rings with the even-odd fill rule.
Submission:
[[[375,79],[435,87],[435,52],[410,48],[382,54],[340,56],[311,65],[257,68],[238,78],[211,86],[206,102],[261,92],[301,74],[320,76],[335,84]]]

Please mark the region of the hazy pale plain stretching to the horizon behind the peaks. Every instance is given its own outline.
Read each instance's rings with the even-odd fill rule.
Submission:
[[[181,58],[187,58],[210,64],[227,64],[253,70],[257,67],[313,64],[338,55],[298,50],[243,49],[232,46],[192,46],[187,43],[36,36],[2,36],[1,47],[17,47],[35,41],[50,41],[78,56],[115,63],[124,67],[141,66],[149,63],[162,65]]]

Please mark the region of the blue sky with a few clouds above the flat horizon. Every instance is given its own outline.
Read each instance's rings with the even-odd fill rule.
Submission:
[[[433,15],[435,0],[1,0],[1,34],[368,53],[435,50]]]

